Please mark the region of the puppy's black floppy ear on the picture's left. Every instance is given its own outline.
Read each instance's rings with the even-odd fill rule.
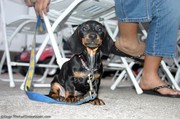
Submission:
[[[73,54],[79,54],[83,51],[83,45],[82,45],[82,40],[81,40],[81,36],[80,36],[80,27],[81,25],[79,25],[76,30],[74,31],[74,33],[72,34],[72,36],[67,40],[67,44],[71,50],[71,52]]]

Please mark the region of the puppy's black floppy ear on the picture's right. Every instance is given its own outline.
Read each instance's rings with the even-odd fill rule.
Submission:
[[[103,55],[109,55],[111,53],[111,47],[113,45],[113,40],[110,37],[110,35],[108,34],[107,31],[105,31],[105,35],[104,35],[104,39],[101,45],[101,51],[103,53]]]

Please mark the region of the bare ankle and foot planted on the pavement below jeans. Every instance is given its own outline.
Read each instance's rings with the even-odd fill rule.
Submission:
[[[166,86],[167,84],[158,76],[158,69],[162,58],[157,56],[145,57],[144,68],[140,87],[144,90],[150,90],[158,86]],[[170,88],[160,88],[157,90],[162,95],[180,95],[180,91]]]

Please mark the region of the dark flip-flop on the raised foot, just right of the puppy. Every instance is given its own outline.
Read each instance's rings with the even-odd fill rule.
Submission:
[[[115,46],[115,43],[112,45],[111,47],[111,53],[115,54],[115,55],[118,55],[118,56],[121,56],[121,57],[128,57],[128,58],[131,58],[135,61],[138,61],[140,63],[144,63],[144,60],[143,59],[140,59],[142,56],[144,56],[144,54],[142,55],[139,55],[139,56],[132,56],[132,55],[129,55],[127,53],[124,53],[123,51],[119,50],[118,48],[116,48]]]

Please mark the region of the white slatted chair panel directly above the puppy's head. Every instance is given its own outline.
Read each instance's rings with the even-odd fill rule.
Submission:
[[[55,20],[74,0],[52,0],[48,16]],[[67,19],[67,24],[80,24],[83,21],[104,20],[115,17],[114,0],[83,0]]]

